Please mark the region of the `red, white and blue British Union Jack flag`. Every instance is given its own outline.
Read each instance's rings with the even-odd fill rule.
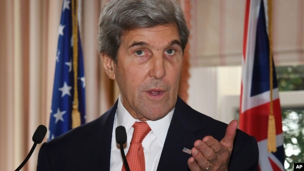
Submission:
[[[270,88],[270,44],[263,0],[247,0],[242,60],[240,129],[258,141],[259,171],[284,171],[284,137],[278,83],[274,63]],[[273,60],[272,60],[273,61]],[[275,153],[268,152],[268,121],[271,96],[275,117]]]

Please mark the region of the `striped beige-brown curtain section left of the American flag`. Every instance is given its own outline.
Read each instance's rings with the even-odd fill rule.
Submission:
[[[57,35],[52,26],[58,23],[60,5],[57,1],[1,0],[0,170],[16,169],[33,144],[36,127],[47,123],[52,87],[47,75],[53,72]],[[31,171],[34,158],[26,166]]]

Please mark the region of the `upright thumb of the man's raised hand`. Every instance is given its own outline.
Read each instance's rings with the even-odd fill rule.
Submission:
[[[233,142],[236,135],[238,124],[239,122],[237,120],[232,120],[226,128],[225,137],[220,141],[220,143],[230,151],[232,151],[233,148]]]

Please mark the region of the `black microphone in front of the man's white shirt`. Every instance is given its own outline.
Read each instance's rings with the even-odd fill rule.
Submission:
[[[128,165],[128,162],[126,159],[125,151],[124,151],[124,144],[127,142],[126,128],[124,126],[116,127],[115,135],[116,135],[116,142],[118,144],[120,144],[120,152],[122,153],[126,171],[130,171],[130,168],[129,168],[129,165]]]

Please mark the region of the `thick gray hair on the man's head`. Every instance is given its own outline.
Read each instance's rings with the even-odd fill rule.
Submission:
[[[183,11],[175,0],[112,0],[102,9],[98,22],[98,52],[117,62],[122,36],[130,30],[176,24],[184,51],[189,37]]]

